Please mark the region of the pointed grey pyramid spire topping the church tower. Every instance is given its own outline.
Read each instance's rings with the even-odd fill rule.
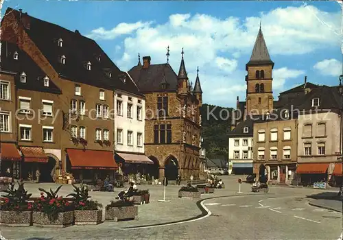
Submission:
[[[254,49],[252,50],[248,64],[274,64],[270,59],[261,27],[259,28],[259,33],[257,34]]]

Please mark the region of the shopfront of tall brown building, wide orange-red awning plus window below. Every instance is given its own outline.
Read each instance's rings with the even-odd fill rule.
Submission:
[[[112,151],[67,149],[67,172],[75,180],[113,179],[117,169]]]

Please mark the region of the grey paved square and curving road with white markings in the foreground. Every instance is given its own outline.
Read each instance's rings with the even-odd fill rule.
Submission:
[[[250,192],[250,184],[242,184],[237,194],[237,177],[223,177],[226,189],[216,189],[218,197],[202,204],[211,215],[186,223],[166,226],[150,226],[180,221],[200,215],[194,200],[178,199],[177,186],[168,186],[169,203],[157,200],[163,197],[163,187],[149,186],[150,204],[139,206],[139,220],[104,222],[98,226],[71,226],[64,229],[1,228],[6,239],[338,239],[342,231],[342,216],[333,211],[315,208],[307,204],[306,195],[318,193],[314,189],[277,188],[267,195]],[[29,184],[27,184],[29,185]],[[56,188],[57,185],[54,185]],[[31,186],[26,186],[30,189]],[[34,186],[36,187],[36,186]],[[141,187],[146,189],[147,186]],[[62,189],[67,193],[68,187]],[[64,192],[63,195],[66,195]],[[69,193],[68,192],[68,193]],[[37,191],[35,194],[39,194]],[[244,194],[244,195],[243,195]],[[249,195],[245,195],[249,194]],[[230,197],[223,197],[229,196]],[[92,193],[104,204],[113,193]],[[132,229],[122,229],[137,227]]]

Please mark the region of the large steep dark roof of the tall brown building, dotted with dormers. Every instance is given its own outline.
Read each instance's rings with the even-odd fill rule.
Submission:
[[[6,14],[8,12],[14,14],[19,21],[20,13],[17,10],[8,8]],[[125,83],[121,81],[119,76],[126,75],[126,73],[108,58],[94,40],[82,36],[78,31],[71,32],[64,27],[27,14],[25,14],[25,18],[30,23],[30,28],[25,28],[25,32],[61,77],[99,88],[120,89],[141,95],[132,81],[129,80]],[[60,38],[63,40],[62,47],[58,47],[57,43]],[[65,64],[61,64],[58,60],[62,55],[66,57]],[[98,57],[100,60],[97,60]],[[91,62],[91,71],[86,70],[86,62]],[[109,77],[107,72],[110,72],[112,77]]]

